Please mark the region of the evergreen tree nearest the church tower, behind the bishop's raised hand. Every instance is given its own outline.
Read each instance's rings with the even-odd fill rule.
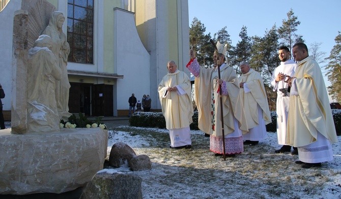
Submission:
[[[210,44],[210,33],[205,35],[206,27],[196,17],[193,18],[191,27],[189,28],[190,46],[195,51],[197,61],[206,67],[213,65],[212,54],[213,46]]]

